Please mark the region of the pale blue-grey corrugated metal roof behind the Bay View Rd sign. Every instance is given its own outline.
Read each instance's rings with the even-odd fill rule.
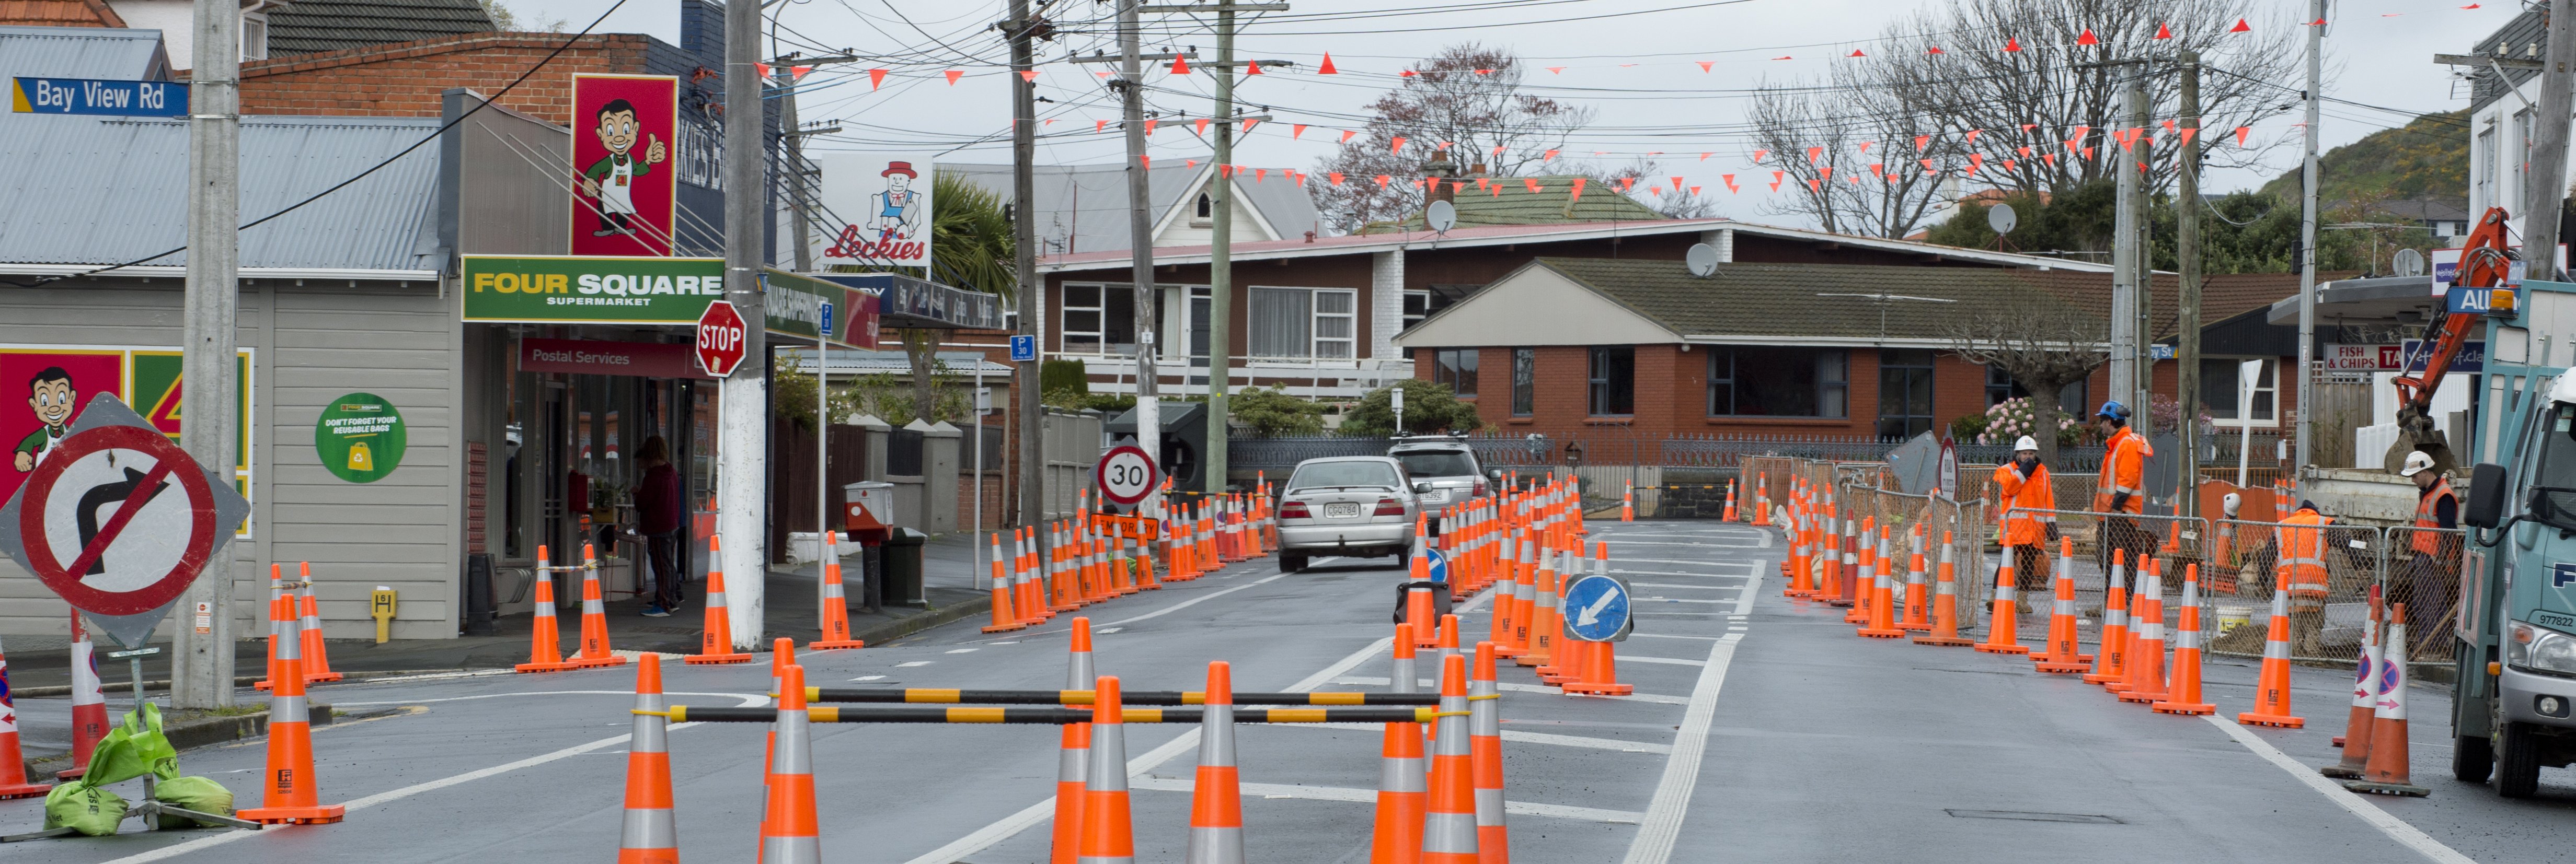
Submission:
[[[438,118],[242,118],[242,221],[412,147]],[[438,147],[242,231],[242,267],[438,270]],[[0,262],[116,265],[185,244],[188,123],[44,116],[0,123]],[[36,206],[41,203],[41,206]],[[188,255],[152,260],[180,265]]]

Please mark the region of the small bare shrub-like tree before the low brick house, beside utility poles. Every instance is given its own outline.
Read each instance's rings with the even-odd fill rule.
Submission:
[[[1960,360],[2002,368],[2030,391],[2040,463],[2058,460],[2058,391],[2110,363],[2110,321],[2079,309],[2012,309],[1942,327]]]

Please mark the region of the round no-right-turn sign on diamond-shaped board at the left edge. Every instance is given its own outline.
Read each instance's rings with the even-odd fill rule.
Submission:
[[[100,393],[0,507],[0,550],[137,648],[247,517],[229,471]]]

